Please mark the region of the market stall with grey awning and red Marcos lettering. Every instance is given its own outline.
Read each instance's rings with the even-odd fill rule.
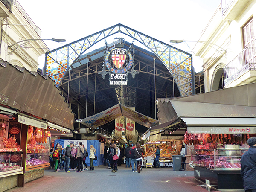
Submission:
[[[240,159],[256,134],[256,83],[184,98],[157,99],[161,124],[187,130],[187,154],[195,178],[218,190],[244,189]],[[189,150],[188,150],[189,148]],[[189,153],[191,151],[191,153]],[[190,162],[190,157],[186,160]]]

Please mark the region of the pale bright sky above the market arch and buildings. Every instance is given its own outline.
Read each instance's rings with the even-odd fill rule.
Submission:
[[[192,53],[193,43],[172,44],[175,40],[198,40],[221,0],[18,0],[41,29],[41,38],[64,38],[67,42],[121,23],[166,44]],[[114,35],[113,38],[123,35]],[[131,39],[125,38],[131,43]],[[63,46],[44,41],[50,50]],[[108,44],[113,42],[107,39]],[[135,42],[137,46],[142,44]],[[104,42],[90,51],[103,47]],[[143,47],[144,48],[144,47]],[[146,49],[146,48],[145,48]],[[194,50],[196,52],[196,50]],[[44,55],[38,60],[44,66]],[[200,58],[193,57],[195,72],[202,70]]]

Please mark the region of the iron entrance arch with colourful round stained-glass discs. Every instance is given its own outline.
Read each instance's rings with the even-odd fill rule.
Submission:
[[[157,58],[163,62],[174,77],[181,96],[189,96],[195,93],[194,69],[192,67],[191,54],[144,35],[143,33],[122,24],[117,24],[47,52],[44,73],[50,76],[58,87],[67,70],[70,69],[72,64],[87,49],[99,41],[119,32],[139,41],[154,52]]]

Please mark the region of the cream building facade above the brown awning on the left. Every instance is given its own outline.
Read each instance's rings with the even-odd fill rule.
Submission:
[[[0,25],[1,60],[37,71],[38,57],[49,49],[43,41],[35,41],[41,39],[41,30],[17,0],[0,0]]]

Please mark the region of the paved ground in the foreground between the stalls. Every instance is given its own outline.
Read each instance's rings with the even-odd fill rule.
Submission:
[[[194,182],[193,171],[143,168],[138,173],[122,165],[112,173],[106,167],[96,166],[94,171],[79,173],[46,170],[44,177],[6,192],[207,192]]]

